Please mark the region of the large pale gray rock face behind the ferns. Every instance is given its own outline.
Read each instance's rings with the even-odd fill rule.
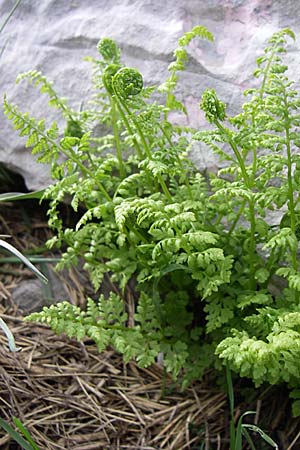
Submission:
[[[14,0],[2,0],[1,21]],[[73,107],[89,96],[89,64],[101,37],[115,39],[124,61],[141,70],[146,82],[160,83],[167,75],[177,39],[195,25],[205,25],[215,44],[194,41],[188,70],[182,75],[180,94],[187,106],[187,123],[202,126],[198,104],[206,87],[216,88],[230,112],[238,112],[241,93],[249,87],[255,59],[266,40],[283,27],[298,34],[297,0],[23,0],[0,35],[0,93],[23,110],[39,117],[56,118],[46,99],[26,83],[15,85],[20,72],[42,71],[55,81],[57,91]],[[299,42],[291,45],[292,72],[297,77]],[[217,164],[202,147],[192,153],[199,167]],[[24,141],[0,115],[0,162],[20,173],[29,189],[51,182],[47,167],[37,164]]]

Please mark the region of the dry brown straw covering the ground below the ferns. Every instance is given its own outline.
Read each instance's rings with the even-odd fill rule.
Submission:
[[[226,399],[207,383],[180,393],[159,365],[124,366],[91,342],[58,337],[3,309],[1,317],[22,349],[9,352],[1,336],[2,416],[17,416],[42,449],[189,449],[205,430],[207,437],[221,431]],[[8,441],[2,433],[0,448]]]

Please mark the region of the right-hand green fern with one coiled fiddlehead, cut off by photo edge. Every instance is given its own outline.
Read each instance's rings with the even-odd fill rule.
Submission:
[[[227,118],[216,93],[203,94],[202,109],[215,129],[195,135],[229,161],[212,180],[212,199],[230,211],[221,219],[224,244],[229,253],[235,249],[231,285],[207,307],[213,314],[219,307],[228,327],[216,352],[257,385],[299,383],[300,103],[282,59],[288,38],[295,38],[288,29],[274,34],[258,58],[254,74],[261,83],[246,91],[251,99],[241,114]],[[276,209],[282,220],[273,225],[269,211]],[[286,279],[286,288],[273,295],[276,276]]]

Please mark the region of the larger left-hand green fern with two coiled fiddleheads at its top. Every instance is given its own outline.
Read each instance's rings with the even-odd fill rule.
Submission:
[[[136,358],[143,366],[163,352],[166,368],[176,377],[186,367],[189,378],[201,376],[213,359],[198,317],[201,301],[229,282],[232,265],[211,225],[214,211],[205,178],[186,158],[190,130],[168,121],[172,109],[184,109],[174,89],[187,59],[185,46],[196,37],[213,39],[204,27],[181,38],[170,77],[158,88],[145,88],[142,75],[123,66],[116,44],[101,40],[100,58],[90,58],[95,96],[79,113],[44,75],[20,75],[18,82],[28,79],[62,113],[63,133],[56,123],[47,128],[44,120],[4,101],[26,145],[51,165],[54,184],[44,198],[50,200],[49,225],[56,231],[48,245],[66,248],[59,268],[83,258],[96,291],[107,275],[119,288],[118,296],[90,299],[84,312],[62,304],[29,320],[77,339],[90,337],[99,350],[113,345],[126,360]],[[153,94],[161,103],[152,100]],[[99,123],[106,130],[100,136],[93,131]],[[64,226],[59,212],[65,198],[83,211],[73,229]],[[138,300],[134,325],[128,327],[125,293],[132,279],[138,282]],[[200,353],[206,355],[203,360],[197,358]]]

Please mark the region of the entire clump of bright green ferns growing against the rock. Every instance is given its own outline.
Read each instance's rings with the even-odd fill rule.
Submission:
[[[298,93],[283,62],[290,30],[275,33],[257,60],[257,88],[243,110],[228,117],[225,104],[207,89],[200,107],[211,126],[173,125],[170,111],[185,112],[175,97],[186,46],[195,27],[178,42],[170,75],[159,87],[144,87],[142,75],[123,65],[110,39],[97,48],[95,96],[75,112],[46,78],[27,78],[48,94],[66,119],[63,132],[4,102],[5,113],[41,162],[51,164],[54,184],[48,245],[66,245],[58,268],[84,260],[96,291],[109,276],[119,294],[89,299],[87,309],[62,303],[34,313],[56,332],[92,338],[142,366],[164,354],[164,364],[184,384],[220,361],[256,384],[299,380],[299,113]],[[95,127],[101,124],[101,134]],[[204,142],[225,168],[197,172],[187,158],[194,140]],[[61,156],[64,156],[62,160]],[[84,211],[66,228],[59,204],[71,198]],[[281,211],[274,223],[272,211]],[[275,292],[276,279],[285,289]],[[128,317],[126,292],[136,284]],[[300,330],[299,330],[300,331]]]

